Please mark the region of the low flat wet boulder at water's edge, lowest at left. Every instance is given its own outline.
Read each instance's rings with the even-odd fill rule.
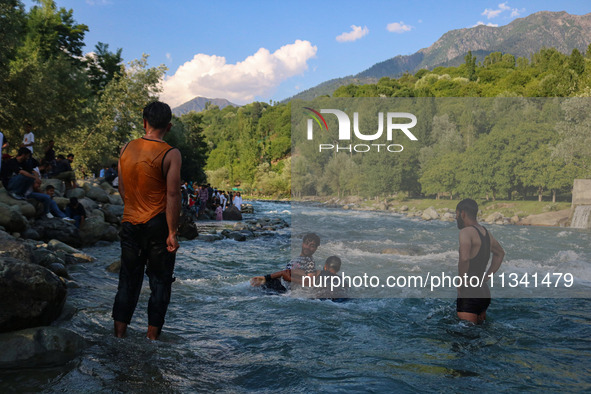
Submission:
[[[84,339],[58,327],[36,327],[0,334],[0,369],[54,367],[74,359]]]

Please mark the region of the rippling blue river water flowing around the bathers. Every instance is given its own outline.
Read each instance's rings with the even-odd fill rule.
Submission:
[[[289,204],[253,205],[255,217],[290,221]],[[457,264],[455,223],[363,212],[365,227],[352,229],[342,227],[351,212],[304,212],[318,218],[312,224],[323,237],[317,264],[339,254],[343,267],[358,266],[368,256],[379,260],[384,248],[412,250],[397,258],[419,266]],[[322,219],[327,214],[336,219]],[[590,281],[589,231],[488,227],[507,252],[504,267],[572,269],[583,285]],[[362,241],[360,232],[368,234]],[[80,288],[69,290],[56,325],[82,335],[87,348],[65,366],[2,372],[2,392],[591,390],[591,292],[495,298],[481,326],[459,322],[453,298],[335,303],[263,294],[248,279],[285,266],[288,228],[246,242],[182,243],[162,340],[150,342],[147,288],[128,337],[111,335],[117,275],[105,267],[118,259],[118,246],[86,252],[98,260],[70,267]]]

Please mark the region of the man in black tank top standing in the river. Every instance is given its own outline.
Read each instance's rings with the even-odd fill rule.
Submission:
[[[482,323],[486,319],[486,309],[490,305],[490,275],[497,272],[505,251],[486,228],[478,224],[478,204],[465,199],[456,207],[456,221],[460,229],[460,258],[458,275],[467,277],[467,282],[458,288],[457,313],[461,320]],[[493,255],[488,271],[488,261]],[[470,278],[477,277],[478,280]],[[484,281],[482,279],[484,278]],[[478,283],[478,285],[476,285]]]

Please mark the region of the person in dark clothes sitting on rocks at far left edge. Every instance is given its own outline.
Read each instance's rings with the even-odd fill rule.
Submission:
[[[16,157],[10,159],[2,166],[2,183],[5,185],[8,195],[16,200],[25,200],[25,193],[33,185],[39,175],[30,165],[31,151],[21,147]]]

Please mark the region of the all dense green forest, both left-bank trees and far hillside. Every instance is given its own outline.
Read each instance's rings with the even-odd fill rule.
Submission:
[[[20,145],[29,122],[36,155],[53,139],[57,153],[76,155],[79,175],[115,162],[121,146],[142,135],[141,110],[159,96],[166,68],[149,67],[147,55],[123,64],[122,49],[100,42],[83,55],[87,26],[52,0],[28,11],[19,0],[5,0],[0,13],[0,130],[9,152]],[[167,140],[181,150],[184,179],[259,195],[289,196],[293,182],[298,195],[555,197],[569,193],[574,178],[591,176],[589,96],[591,48],[570,54],[546,48],[517,59],[469,53],[458,67],[384,77],[333,93],[400,97],[414,105],[439,97],[490,98],[473,105],[421,104],[428,120],[419,127],[420,143],[405,145],[403,154],[385,162],[371,154],[313,158],[292,150],[296,101],[223,110],[209,105],[175,117]]]

